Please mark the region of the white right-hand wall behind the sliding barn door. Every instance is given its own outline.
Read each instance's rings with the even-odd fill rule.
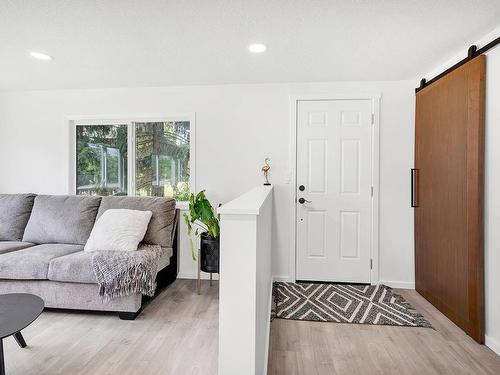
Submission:
[[[432,78],[467,56],[470,45],[478,48],[500,36],[500,27],[478,41],[469,41],[456,56],[432,72]],[[486,123],[485,123],[485,303],[486,345],[500,355],[500,46],[486,53]]]

